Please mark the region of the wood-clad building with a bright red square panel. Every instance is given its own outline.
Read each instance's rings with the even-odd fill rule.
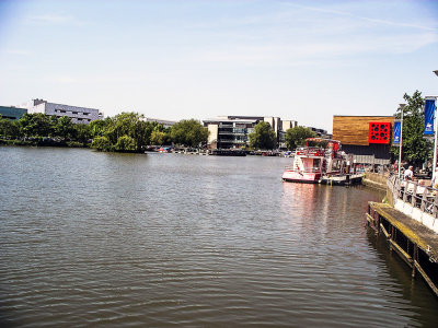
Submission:
[[[391,155],[392,116],[333,116],[333,139],[357,163],[387,164]]]

